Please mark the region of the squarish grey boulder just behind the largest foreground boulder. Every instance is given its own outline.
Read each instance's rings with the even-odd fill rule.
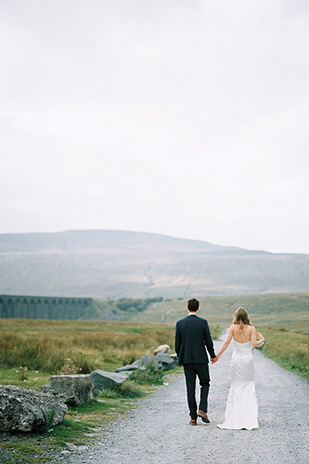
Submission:
[[[40,391],[56,395],[67,405],[80,406],[93,398],[93,388],[90,374],[52,375]]]

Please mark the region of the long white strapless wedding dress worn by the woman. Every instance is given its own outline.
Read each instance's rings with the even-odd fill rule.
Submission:
[[[254,385],[251,341],[234,342],[231,361],[231,387],[227,398],[225,421],[220,429],[258,429],[258,404]]]

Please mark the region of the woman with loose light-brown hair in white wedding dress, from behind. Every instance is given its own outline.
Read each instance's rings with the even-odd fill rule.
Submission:
[[[253,348],[264,342],[264,337],[251,325],[248,312],[244,308],[235,311],[233,325],[229,328],[212,364],[218,361],[234,339],[231,361],[231,387],[228,394],[225,421],[217,425],[220,429],[258,429],[258,405],[254,385]]]

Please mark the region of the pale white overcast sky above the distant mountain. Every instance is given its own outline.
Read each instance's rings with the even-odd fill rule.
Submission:
[[[307,0],[0,6],[0,233],[309,253]]]

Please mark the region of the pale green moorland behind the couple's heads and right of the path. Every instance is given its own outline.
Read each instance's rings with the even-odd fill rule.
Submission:
[[[285,369],[309,378],[309,293],[202,297],[200,303],[200,316],[208,319],[216,330],[228,327],[235,310],[244,306],[253,325],[267,339],[264,354]],[[184,299],[165,300],[151,305],[134,319],[174,324],[185,316],[185,306]]]

